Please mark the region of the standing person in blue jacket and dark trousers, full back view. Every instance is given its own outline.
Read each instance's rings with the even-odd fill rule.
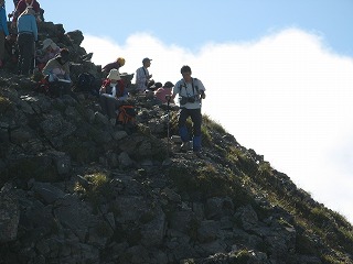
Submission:
[[[34,61],[38,28],[32,8],[26,8],[18,19],[19,74],[29,75]]]

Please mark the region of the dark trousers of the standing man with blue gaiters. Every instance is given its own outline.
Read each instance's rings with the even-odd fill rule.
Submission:
[[[201,124],[202,124],[202,114],[201,114],[201,108],[199,109],[186,109],[182,108],[180,109],[179,113],[179,130],[181,131],[181,138],[182,141],[189,141],[190,139],[186,139],[188,130],[186,130],[186,119],[191,117],[191,120],[193,122],[193,135],[194,136],[201,136]]]

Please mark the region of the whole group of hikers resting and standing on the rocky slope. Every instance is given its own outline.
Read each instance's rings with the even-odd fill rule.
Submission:
[[[18,74],[29,76],[33,73],[33,64],[45,76],[49,82],[50,94],[60,97],[71,95],[74,99],[77,96],[72,90],[69,76],[69,52],[67,48],[60,48],[51,38],[42,42],[42,48],[35,50],[38,41],[36,23],[44,20],[43,10],[36,0],[13,1],[14,11],[11,13],[11,28],[17,28]],[[10,15],[9,15],[10,18]],[[7,24],[4,0],[0,0],[0,68],[3,66],[4,42],[10,34]],[[182,140],[181,150],[199,153],[201,151],[201,124],[202,99],[205,99],[205,87],[202,81],[191,77],[192,72],[189,66],[181,68],[182,78],[173,85],[167,81],[164,85],[154,82],[149,73],[151,65],[149,57],[142,59],[142,66],[136,70],[135,92],[140,95],[153,95],[160,103],[174,103],[174,98],[179,95],[179,133]],[[121,79],[119,68],[125,65],[125,58],[118,57],[115,62],[107,64],[101,69],[101,86],[98,91],[101,113],[106,114],[113,125],[116,124],[120,107],[126,105],[128,98],[127,84]],[[186,128],[186,120],[191,118],[193,122],[192,144]]]

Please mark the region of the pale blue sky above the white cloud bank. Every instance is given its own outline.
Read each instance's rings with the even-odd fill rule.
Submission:
[[[49,21],[66,31],[108,35],[124,43],[147,32],[165,44],[193,51],[208,42],[258,40],[270,32],[296,26],[322,34],[335,52],[353,55],[351,0],[85,0],[39,1]],[[7,0],[8,12],[13,9]],[[78,11],[79,10],[79,11]]]

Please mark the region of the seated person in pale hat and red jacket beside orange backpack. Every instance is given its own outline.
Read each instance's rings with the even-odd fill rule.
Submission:
[[[101,112],[109,117],[113,125],[116,124],[117,120],[116,110],[125,103],[127,97],[126,85],[120,78],[118,69],[110,69],[99,90],[99,103]]]

